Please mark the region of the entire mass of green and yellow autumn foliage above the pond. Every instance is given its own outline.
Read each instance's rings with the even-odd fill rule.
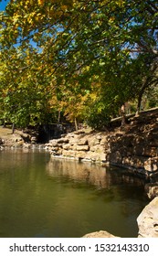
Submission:
[[[155,0],[10,1],[0,13],[1,116],[26,126],[59,110],[99,128],[126,101],[140,108],[157,86],[157,10]]]

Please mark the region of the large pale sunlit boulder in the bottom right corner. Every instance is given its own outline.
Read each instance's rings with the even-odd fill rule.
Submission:
[[[155,197],[137,218],[139,238],[158,238],[158,197]]]

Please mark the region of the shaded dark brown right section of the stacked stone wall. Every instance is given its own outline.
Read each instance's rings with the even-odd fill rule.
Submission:
[[[110,163],[136,170],[145,176],[158,173],[158,119],[134,117],[124,133],[111,134]]]

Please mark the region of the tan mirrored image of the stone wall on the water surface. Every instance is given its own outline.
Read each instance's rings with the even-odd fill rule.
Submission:
[[[107,188],[111,185],[134,184],[143,187],[141,178],[129,175],[127,170],[114,167],[102,167],[91,163],[68,161],[66,159],[50,158],[47,163],[47,174],[52,177],[65,177],[74,182],[84,182],[98,188]]]

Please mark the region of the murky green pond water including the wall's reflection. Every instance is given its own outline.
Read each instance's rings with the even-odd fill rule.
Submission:
[[[121,169],[46,152],[0,152],[1,238],[75,238],[100,229],[136,237],[147,203],[143,181]]]

